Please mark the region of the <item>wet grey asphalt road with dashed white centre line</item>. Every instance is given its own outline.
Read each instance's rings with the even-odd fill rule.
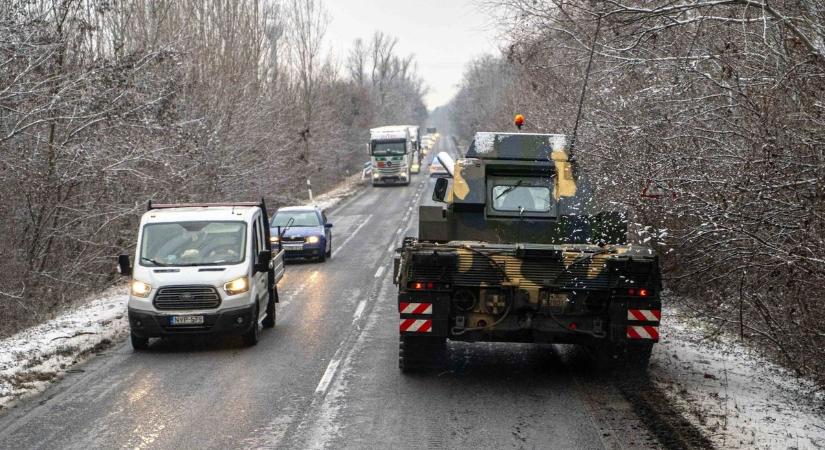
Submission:
[[[332,259],[287,268],[257,346],[119,344],[0,417],[0,448],[659,447],[562,347],[450,343],[443,372],[399,372],[392,256],[430,201],[422,169],[330,211]]]

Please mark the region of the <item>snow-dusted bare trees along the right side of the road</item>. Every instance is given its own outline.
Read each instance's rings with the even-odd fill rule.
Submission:
[[[577,151],[602,200],[634,213],[688,307],[825,382],[822,6],[487,4],[520,39],[468,67],[461,132],[514,110],[534,130],[570,132],[592,53]],[[512,84],[490,101],[499,64]],[[650,180],[675,197],[640,199]]]

